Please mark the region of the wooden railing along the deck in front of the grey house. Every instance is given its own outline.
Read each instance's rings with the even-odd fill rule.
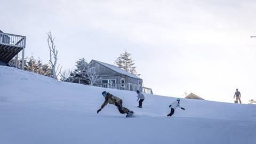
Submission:
[[[106,88],[117,89],[117,90],[134,91],[134,92],[139,90],[142,93],[153,94],[152,89],[150,89],[148,87],[143,87],[141,85],[131,84],[131,83],[94,84],[93,86],[106,87]]]

